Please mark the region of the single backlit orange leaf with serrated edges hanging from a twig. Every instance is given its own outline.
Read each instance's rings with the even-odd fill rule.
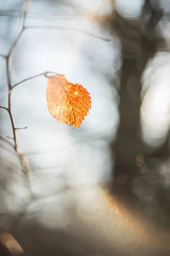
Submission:
[[[48,111],[57,120],[79,127],[91,108],[90,93],[63,75],[49,76],[46,90]]]

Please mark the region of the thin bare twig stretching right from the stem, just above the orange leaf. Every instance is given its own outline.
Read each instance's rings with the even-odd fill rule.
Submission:
[[[91,32],[86,31],[85,29],[77,29],[77,28],[71,28],[71,27],[63,27],[63,26],[27,26],[26,29],[63,29],[63,30],[75,30],[78,32],[85,33],[86,35],[90,35],[94,38],[98,38],[100,40],[111,42],[111,38],[102,38],[98,35],[94,35]]]

